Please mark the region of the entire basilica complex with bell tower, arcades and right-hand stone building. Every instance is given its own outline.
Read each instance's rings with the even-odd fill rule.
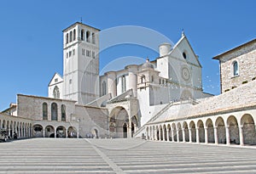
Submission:
[[[184,33],[160,44],[157,58],[100,75],[99,32],[81,22],[63,30],[63,72],[48,96],[17,94],[0,114],[10,137],[256,144],[255,39],[213,58],[221,80],[213,96]]]

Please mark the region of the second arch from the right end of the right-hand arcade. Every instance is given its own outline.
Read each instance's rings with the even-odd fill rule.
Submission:
[[[236,117],[234,115],[230,115],[226,125],[229,127],[230,132],[230,143],[236,143],[239,144],[239,127],[236,120]]]

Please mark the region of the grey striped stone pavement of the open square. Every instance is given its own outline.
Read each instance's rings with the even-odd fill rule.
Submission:
[[[0,173],[256,173],[256,149],[140,139],[0,143]]]

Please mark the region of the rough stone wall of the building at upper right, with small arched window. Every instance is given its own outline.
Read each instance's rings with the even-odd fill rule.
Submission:
[[[256,39],[213,58],[219,60],[221,93],[256,80],[255,58]],[[233,63],[235,61],[238,64],[237,75],[234,75]]]

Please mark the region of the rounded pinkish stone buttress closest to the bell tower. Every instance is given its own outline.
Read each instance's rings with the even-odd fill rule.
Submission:
[[[116,91],[116,74],[114,71],[106,72],[107,74],[107,94],[111,93],[111,97],[114,98],[117,95]],[[101,84],[102,86],[102,84]]]

